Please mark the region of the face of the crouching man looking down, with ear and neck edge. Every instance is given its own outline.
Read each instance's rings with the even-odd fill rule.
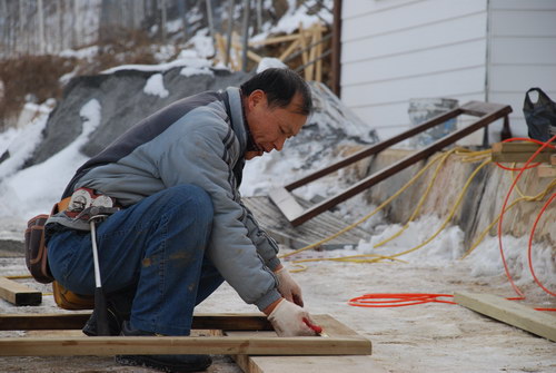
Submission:
[[[296,136],[307,121],[300,112],[302,98],[296,94],[287,107],[269,107],[267,95],[256,90],[247,97],[246,117],[258,151],[247,151],[245,158],[252,159],[272,149],[281,150],[286,139]]]

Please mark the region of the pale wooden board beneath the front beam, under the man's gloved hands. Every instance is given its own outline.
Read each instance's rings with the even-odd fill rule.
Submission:
[[[341,324],[329,315],[312,317],[325,326],[328,337],[356,336],[355,331]],[[228,332],[232,336],[248,335],[252,332]],[[234,360],[245,373],[337,373],[337,372],[387,372],[378,366],[370,356],[249,356],[235,355]]]

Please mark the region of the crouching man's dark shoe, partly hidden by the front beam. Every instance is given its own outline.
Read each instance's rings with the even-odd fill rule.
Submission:
[[[121,327],[123,336],[155,336],[155,333],[132,330],[128,321]],[[212,364],[209,355],[117,355],[116,362],[122,365],[148,366],[163,372],[198,372]]]

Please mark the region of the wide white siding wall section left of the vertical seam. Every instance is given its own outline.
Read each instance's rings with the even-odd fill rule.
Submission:
[[[486,0],[342,2],[341,99],[381,138],[409,99],[485,100]]]

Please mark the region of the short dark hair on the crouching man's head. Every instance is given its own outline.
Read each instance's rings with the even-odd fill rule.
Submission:
[[[269,107],[284,108],[299,92],[302,99],[299,111],[308,116],[312,110],[309,87],[297,72],[290,69],[266,69],[241,85],[241,94],[246,97],[257,89],[267,94]]]

